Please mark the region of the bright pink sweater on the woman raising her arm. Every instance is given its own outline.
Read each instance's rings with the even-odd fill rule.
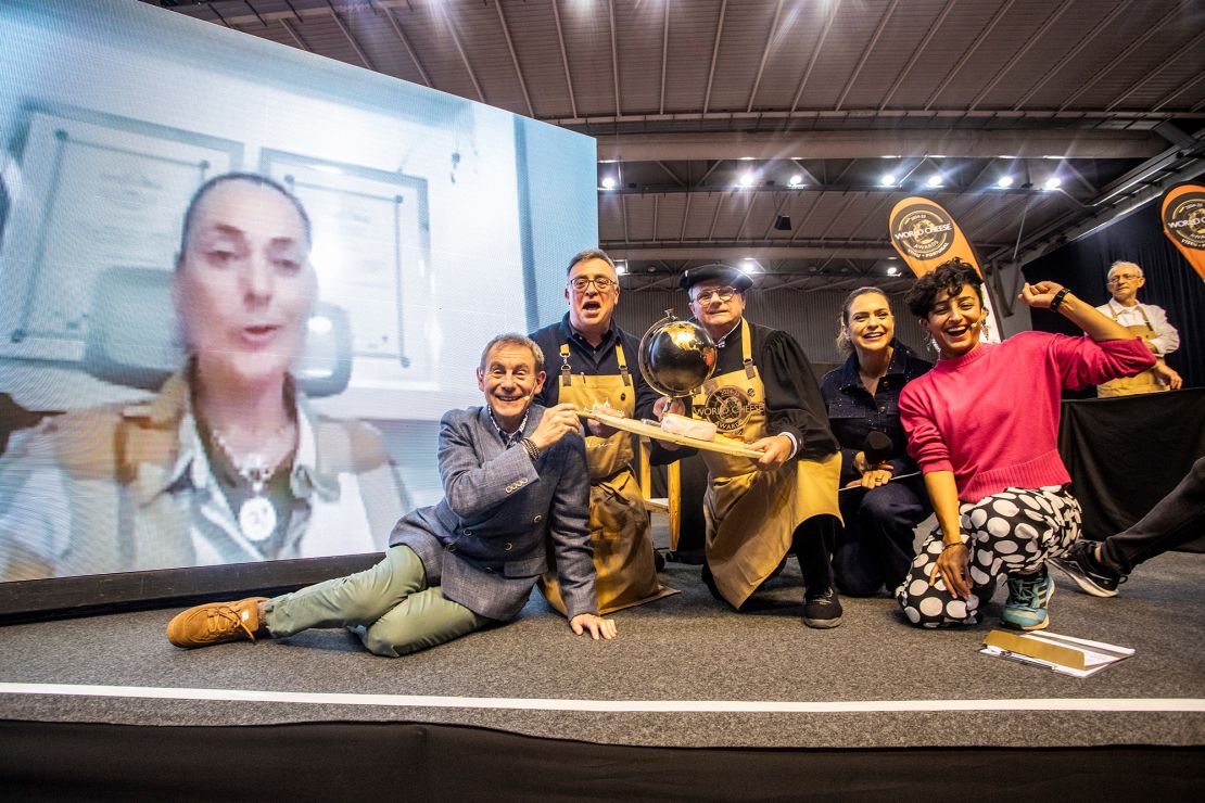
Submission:
[[[954,472],[958,498],[1070,482],[1058,454],[1059,396],[1154,365],[1141,338],[1022,332],[982,343],[904,386],[909,454],[925,473]]]

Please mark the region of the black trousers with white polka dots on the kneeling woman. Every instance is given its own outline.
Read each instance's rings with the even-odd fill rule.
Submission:
[[[935,529],[895,590],[904,615],[913,625],[978,624],[980,603],[991,596],[1000,574],[1029,574],[1080,537],[1080,503],[1062,485],[1006,488],[978,502],[963,502],[958,512],[963,543],[971,550],[971,594],[956,600],[940,575],[929,583],[942,549],[941,530]]]

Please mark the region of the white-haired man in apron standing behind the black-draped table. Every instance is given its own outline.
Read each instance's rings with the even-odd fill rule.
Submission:
[[[1097,307],[1136,337],[1141,337],[1151,354],[1159,358],[1154,367],[1136,377],[1111,379],[1097,386],[1099,396],[1131,396],[1162,390],[1178,390],[1182,380],[1163,361],[1168,354],[1180,348],[1180,332],[1168,323],[1168,313],[1153,303],[1139,303],[1138,291],[1146,284],[1142,268],[1135,262],[1118,260],[1109,266],[1109,303]]]

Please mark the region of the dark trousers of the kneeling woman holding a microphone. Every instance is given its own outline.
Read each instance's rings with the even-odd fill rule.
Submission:
[[[845,532],[835,532],[833,572],[836,586],[852,597],[880,589],[893,592],[916,557],[916,525],[933,507],[919,478],[887,483],[871,490],[842,490]]]

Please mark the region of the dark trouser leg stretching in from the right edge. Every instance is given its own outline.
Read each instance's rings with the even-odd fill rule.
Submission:
[[[1129,574],[1134,567],[1186,544],[1205,527],[1205,456],[1188,476],[1128,530],[1105,538],[1100,556],[1106,567]]]

